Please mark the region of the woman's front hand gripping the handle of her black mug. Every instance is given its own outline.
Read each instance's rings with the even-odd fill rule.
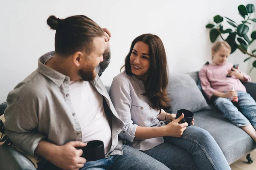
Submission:
[[[183,135],[183,131],[189,125],[187,122],[179,123],[184,118],[184,114],[178,118],[168,123],[166,126],[166,136],[180,137]]]

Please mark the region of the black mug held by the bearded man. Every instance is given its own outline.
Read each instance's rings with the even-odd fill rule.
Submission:
[[[90,141],[84,147],[77,147],[77,149],[83,150],[83,155],[88,161],[97,161],[105,158],[104,143],[102,141]]]

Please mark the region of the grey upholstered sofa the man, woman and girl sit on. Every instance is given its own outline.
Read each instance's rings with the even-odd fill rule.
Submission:
[[[198,72],[189,73],[198,82]],[[256,100],[256,83],[244,83],[247,92]],[[108,87],[109,88],[109,87]],[[107,88],[107,89],[108,89]],[[224,153],[229,164],[237,161],[253,151],[256,143],[241,128],[233,125],[224,115],[218,111],[210,102],[210,109],[194,113],[195,126],[207,130],[216,140]],[[0,115],[3,114],[6,103],[0,105]],[[186,159],[192,156],[175,145],[172,150],[183,153]],[[250,155],[247,155],[250,162]],[[0,146],[0,170],[35,170],[33,164],[21,153],[9,146]]]

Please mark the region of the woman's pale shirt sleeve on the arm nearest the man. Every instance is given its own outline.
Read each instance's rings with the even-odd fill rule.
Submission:
[[[136,128],[131,119],[131,94],[130,88],[124,79],[114,79],[110,88],[110,97],[119,118],[124,122],[124,128],[119,136],[133,142]]]

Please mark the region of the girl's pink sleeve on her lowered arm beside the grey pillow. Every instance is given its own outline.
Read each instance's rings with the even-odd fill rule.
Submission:
[[[213,93],[216,91],[215,89],[213,89],[211,87],[211,84],[207,78],[207,71],[206,71],[206,68],[202,68],[200,71],[199,71],[199,78],[200,78],[200,81],[201,81],[201,86],[202,86],[202,89],[204,91],[204,93],[207,95],[207,97],[209,99],[212,98],[213,96]]]

